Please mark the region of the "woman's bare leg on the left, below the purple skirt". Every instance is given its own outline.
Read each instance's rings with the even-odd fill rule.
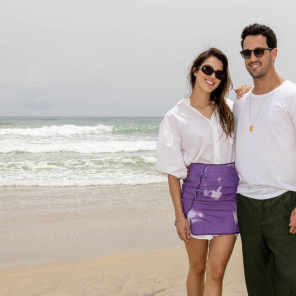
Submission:
[[[189,272],[187,276],[187,295],[203,296],[205,286],[205,270],[208,255],[208,240],[191,237],[191,244],[185,242]]]

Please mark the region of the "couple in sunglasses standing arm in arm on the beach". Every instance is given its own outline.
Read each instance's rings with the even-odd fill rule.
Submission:
[[[248,294],[293,296],[296,85],[275,70],[272,29],[255,23],[241,38],[254,88],[236,90],[232,113],[227,57],[216,48],[203,52],[188,75],[191,95],[161,123],[156,170],[168,176],[177,232],[185,241],[188,295],[222,294],[240,232]]]

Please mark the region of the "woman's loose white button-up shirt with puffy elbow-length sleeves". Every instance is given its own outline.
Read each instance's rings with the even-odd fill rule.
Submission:
[[[232,108],[233,102],[227,99]],[[211,119],[183,98],[164,116],[157,140],[156,171],[179,179],[187,177],[191,163],[234,162],[233,139],[223,133],[216,110]]]

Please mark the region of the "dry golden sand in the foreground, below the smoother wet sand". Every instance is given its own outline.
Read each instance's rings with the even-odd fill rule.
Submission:
[[[0,294],[185,296],[187,272],[188,259],[183,246],[0,271]],[[226,269],[223,295],[248,295],[240,240]]]

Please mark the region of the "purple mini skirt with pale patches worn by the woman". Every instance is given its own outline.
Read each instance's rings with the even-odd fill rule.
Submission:
[[[239,233],[235,163],[191,163],[183,180],[182,206],[193,235]]]

